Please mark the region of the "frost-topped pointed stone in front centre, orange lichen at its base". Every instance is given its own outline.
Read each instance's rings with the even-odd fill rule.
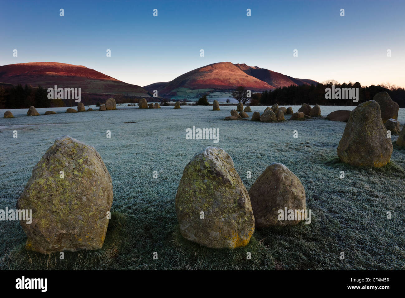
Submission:
[[[243,247],[254,233],[249,194],[221,148],[205,148],[186,165],[176,212],[181,235],[206,247]]]

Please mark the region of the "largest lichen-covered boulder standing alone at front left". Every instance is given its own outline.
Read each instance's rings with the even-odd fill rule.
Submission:
[[[26,249],[102,248],[112,203],[113,184],[100,154],[68,135],[56,139],[17,201],[17,209],[32,210],[32,223],[20,221],[28,237]]]

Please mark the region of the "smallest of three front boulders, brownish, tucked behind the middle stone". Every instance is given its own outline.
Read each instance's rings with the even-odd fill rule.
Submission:
[[[279,210],[305,210],[305,189],[285,165],[272,163],[249,189],[256,227],[296,225],[299,220],[279,220]],[[302,214],[302,213],[301,213]]]

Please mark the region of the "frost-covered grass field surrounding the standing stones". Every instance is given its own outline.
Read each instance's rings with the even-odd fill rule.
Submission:
[[[405,150],[394,145],[392,163],[354,168],[337,160],[345,122],[323,119],[261,123],[221,121],[235,106],[207,106],[28,117],[28,109],[0,118],[0,209],[15,208],[34,165],[55,138],[70,135],[94,146],[113,179],[113,219],[100,251],[43,256],[27,253],[18,222],[0,221],[2,269],[404,269]],[[98,109],[92,106],[93,109]],[[293,106],[294,112],[298,106]],[[321,106],[326,116],[337,109]],[[86,106],[87,109],[87,106]],[[265,107],[252,107],[262,113]],[[1,116],[5,110],[0,110]],[[253,113],[248,113],[250,116]],[[286,118],[288,118],[287,116]],[[400,109],[401,125],[405,109]],[[125,123],[131,122],[131,123]],[[220,141],[187,140],[185,129],[216,128]],[[17,130],[18,138],[13,138]],[[106,131],[111,131],[111,138]],[[293,131],[298,138],[293,138]],[[392,137],[392,141],[397,136]],[[245,248],[215,250],[179,236],[175,195],[183,168],[207,146],[228,152],[249,190],[272,162],[286,165],[305,187],[311,224],[257,229]],[[340,179],[340,171],[345,178]],[[158,178],[153,179],[153,171]],[[252,172],[252,179],[246,172]],[[387,219],[387,211],[392,218]],[[152,259],[158,252],[158,260]],[[246,260],[246,252],[252,260]],[[345,252],[345,260],[339,259]]]

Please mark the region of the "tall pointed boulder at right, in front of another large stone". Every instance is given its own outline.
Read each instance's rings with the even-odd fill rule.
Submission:
[[[350,113],[337,155],[351,165],[382,167],[390,162],[391,154],[391,139],[387,137],[378,103],[361,103]]]

